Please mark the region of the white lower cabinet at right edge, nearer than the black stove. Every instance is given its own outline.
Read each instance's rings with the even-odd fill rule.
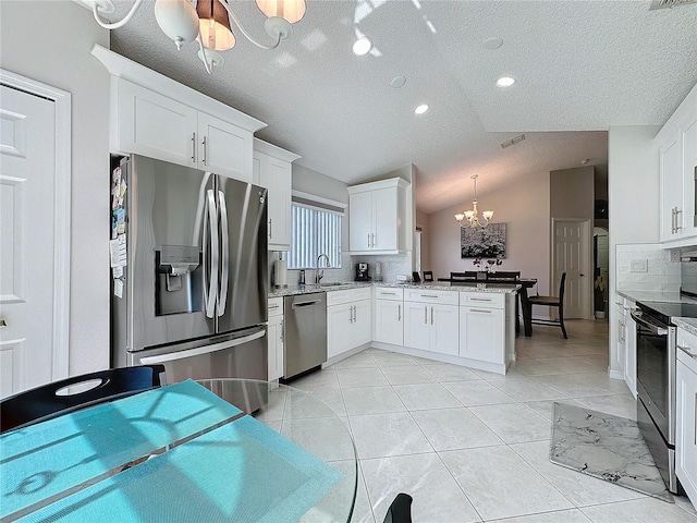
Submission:
[[[697,337],[677,329],[675,473],[697,506]]]

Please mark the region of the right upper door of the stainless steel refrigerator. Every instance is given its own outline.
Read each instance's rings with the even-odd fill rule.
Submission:
[[[218,331],[227,332],[267,321],[267,190],[224,177],[218,179]]]

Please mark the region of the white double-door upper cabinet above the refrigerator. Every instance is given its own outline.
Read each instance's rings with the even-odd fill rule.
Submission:
[[[112,153],[252,182],[253,137],[264,122],[101,46],[93,54],[112,75]]]

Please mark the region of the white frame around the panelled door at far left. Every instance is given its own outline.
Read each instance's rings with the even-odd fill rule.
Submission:
[[[70,227],[72,170],[72,99],[66,90],[0,69],[0,84],[56,105],[56,185],[53,192],[53,346],[51,378],[69,376],[70,364]]]

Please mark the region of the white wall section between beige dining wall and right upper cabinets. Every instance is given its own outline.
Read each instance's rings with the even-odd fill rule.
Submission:
[[[617,245],[659,242],[659,155],[653,136],[660,126],[613,126],[608,131],[608,215],[610,275],[616,275]],[[609,283],[610,375],[617,367],[616,278]]]

